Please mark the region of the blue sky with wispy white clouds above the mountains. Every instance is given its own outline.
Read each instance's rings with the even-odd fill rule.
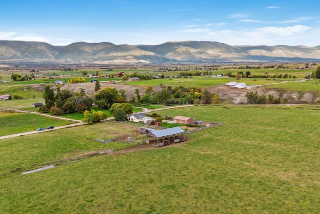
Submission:
[[[0,1],[0,40],[320,45],[318,0]]]

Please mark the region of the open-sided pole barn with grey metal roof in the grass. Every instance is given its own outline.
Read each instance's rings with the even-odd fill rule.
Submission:
[[[145,132],[146,143],[152,143],[153,146],[164,146],[172,143],[184,141],[184,130],[180,127],[155,130],[151,128],[140,128]]]

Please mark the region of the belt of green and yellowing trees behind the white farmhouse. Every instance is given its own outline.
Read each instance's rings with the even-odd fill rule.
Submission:
[[[95,89],[99,89],[99,87],[97,82]],[[45,105],[39,108],[41,112],[50,112],[54,115],[79,112],[84,114],[84,122],[97,122],[107,118],[107,115],[99,111],[89,111],[92,100],[85,94],[84,89],[80,89],[79,92],[71,92],[66,89],[60,90],[60,86],[58,86],[56,95],[54,95],[53,88],[45,86],[42,96]],[[150,104],[217,104],[219,102],[219,96],[211,94],[206,89],[202,90],[200,87],[184,88],[183,86],[174,89],[170,86],[160,85],[156,88],[150,86],[145,89],[143,96],[140,95],[138,89],[135,89],[134,96],[130,100],[127,100],[126,91],[123,89],[117,91],[107,87],[97,90],[93,95],[93,103],[100,109],[109,109],[116,120],[124,120],[127,114],[132,113],[131,104],[148,106]]]

